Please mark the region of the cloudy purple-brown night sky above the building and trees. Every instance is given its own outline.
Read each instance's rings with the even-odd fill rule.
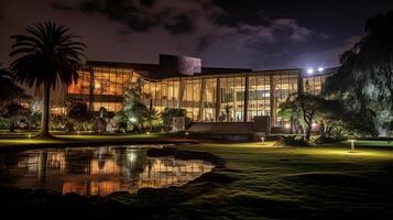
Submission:
[[[369,16],[392,9],[393,0],[0,0],[0,63],[10,63],[10,35],[55,21],[83,36],[89,59],[157,63],[166,53],[204,66],[329,67]]]

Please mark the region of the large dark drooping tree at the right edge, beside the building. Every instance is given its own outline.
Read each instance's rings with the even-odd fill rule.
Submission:
[[[387,127],[393,120],[393,11],[370,18],[364,30],[365,35],[340,56],[341,66],[327,79],[324,92],[346,100],[354,116]]]

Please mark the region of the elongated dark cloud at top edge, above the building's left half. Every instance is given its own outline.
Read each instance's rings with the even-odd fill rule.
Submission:
[[[163,26],[171,34],[193,32],[193,21],[184,11],[175,7],[154,9],[155,0],[83,0],[77,6],[53,2],[57,10],[79,10],[87,14],[99,13],[107,19],[120,22],[134,32],[148,32]]]

